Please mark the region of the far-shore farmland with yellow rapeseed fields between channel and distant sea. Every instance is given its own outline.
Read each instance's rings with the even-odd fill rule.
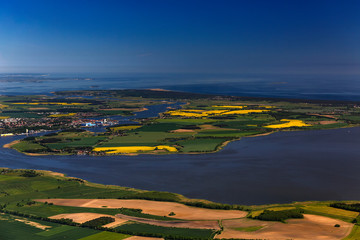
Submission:
[[[59,92],[63,97],[2,97],[1,131],[16,126],[11,119],[21,117],[27,129],[60,130],[44,136],[29,137],[12,148],[26,154],[172,154],[210,153],[242,137],[276,131],[298,131],[358,126],[357,103],[305,100],[274,100],[177,95],[152,90]],[[141,93],[141,97],[139,94]],[[173,93],[169,95],[169,93]],[[82,97],[84,96],[84,97]],[[93,97],[91,99],[85,97]],[[111,96],[111,98],[109,97]],[[111,122],[105,132],[82,129],[91,117],[131,115],[146,111],[146,106],[182,102],[181,109],[168,107],[157,117],[142,117],[133,123]],[[145,115],[144,115],[145,116]],[[9,120],[10,119],[10,120]],[[34,123],[35,124],[35,123]],[[21,125],[21,124],[20,124]],[[95,124],[94,124],[95,125]],[[14,131],[24,130],[15,127]]]

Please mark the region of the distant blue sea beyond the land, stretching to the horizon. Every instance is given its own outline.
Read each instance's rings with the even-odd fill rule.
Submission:
[[[165,88],[235,96],[360,101],[359,75],[326,74],[1,74],[0,94]]]

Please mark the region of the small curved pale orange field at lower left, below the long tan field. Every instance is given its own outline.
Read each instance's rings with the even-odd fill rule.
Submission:
[[[116,227],[120,224],[127,222],[127,220],[117,218],[117,217],[114,217],[111,215],[100,214],[100,213],[64,213],[64,214],[58,214],[55,216],[51,216],[50,218],[51,219],[69,218],[69,219],[72,219],[76,223],[84,223],[84,222],[87,222],[87,221],[90,221],[90,220],[93,220],[93,219],[99,218],[99,217],[115,218],[115,222],[104,225],[104,227],[109,227],[109,228]]]

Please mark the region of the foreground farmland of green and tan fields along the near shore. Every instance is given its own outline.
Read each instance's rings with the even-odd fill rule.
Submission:
[[[174,193],[94,184],[47,171],[0,171],[1,239],[131,240],[132,236],[357,239],[359,236],[359,227],[353,223],[359,213],[331,207],[334,203],[331,201],[228,205]],[[346,203],[358,202],[341,202]],[[300,218],[289,216],[285,222],[253,219],[264,211],[272,211],[277,217],[277,213],[293,210],[303,212]],[[101,222],[100,217],[114,222]],[[90,221],[105,225],[82,225]]]

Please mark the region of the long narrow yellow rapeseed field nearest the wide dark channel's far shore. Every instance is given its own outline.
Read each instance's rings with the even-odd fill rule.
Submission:
[[[177,152],[177,149],[175,147],[171,147],[167,145],[158,145],[155,147],[149,147],[149,146],[96,147],[93,149],[93,151],[95,152],[106,152],[107,154],[149,152],[154,150],[167,150],[169,152]]]

